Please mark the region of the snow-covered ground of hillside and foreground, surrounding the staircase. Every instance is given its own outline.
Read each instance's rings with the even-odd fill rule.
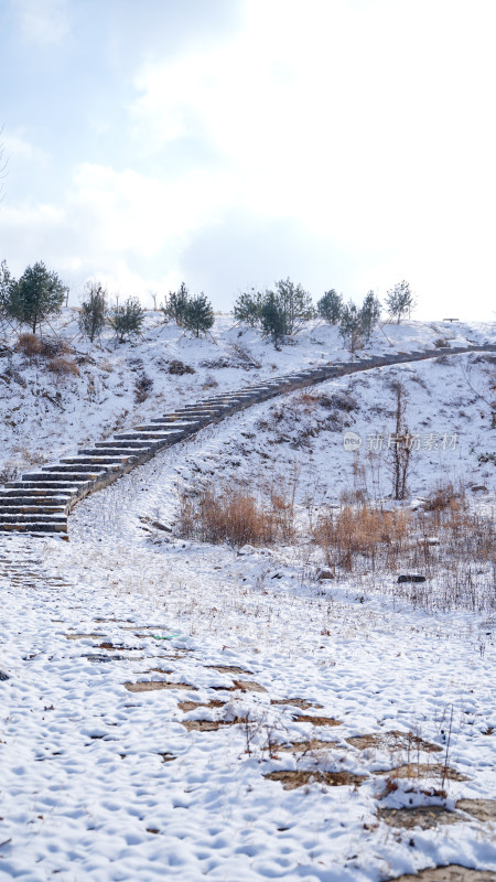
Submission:
[[[227,316],[217,343],[153,322],[147,341],[91,349],[77,377],[4,354],[4,467],[348,357],[323,325],[279,353],[255,332],[238,337]],[[369,352],[496,338],[488,325],[385,332]],[[172,359],[196,373],[170,375]],[[293,392],[83,501],[68,542],[1,538],[0,880],[386,882],[448,864],[496,879],[494,555],[471,574],[470,607],[442,594],[441,530],[422,595],[397,584],[405,570],[366,560],[322,580],[311,540],[323,509],[359,498],[395,508],[398,380],[420,438],[400,507],[414,512],[450,482],[468,513],[494,519],[494,369],[455,356]],[[153,380],[142,401],[137,375]],[[363,439],[357,455],[345,431]],[[294,501],[294,537],[256,548],[184,538],[181,498],[208,485],[260,496],[277,485]]]

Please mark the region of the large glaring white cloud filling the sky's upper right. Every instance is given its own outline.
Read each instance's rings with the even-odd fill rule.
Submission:
[[[496,10],[466,9],[250,0],[235,40],[140,72],[136,131],[157,152],[201,138],[230,207],[461,294],[496,233]]]

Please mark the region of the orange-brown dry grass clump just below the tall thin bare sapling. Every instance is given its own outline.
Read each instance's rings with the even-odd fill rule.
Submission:
[[[345,506],[339,512],[325,512],[317,520],[313,538],[322,547],[326,562],[346,572],[359,558],[375,569],[378,558],[386,566],[396,566],[405,552],[410,535],[411,513],[405,509],[384,512],[360,505]]]

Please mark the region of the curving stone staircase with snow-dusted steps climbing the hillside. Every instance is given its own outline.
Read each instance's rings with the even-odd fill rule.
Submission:
[[[160,450],[194,434],[208,423],[236,413],[254,404],[322,383],[343,374],[405,362],[416,362],[465,352],[496,352],[496,345],[445,347],[414,353],[375,356],[339,364],[306,368],[295,374],[271,377],[231,392],[220,392],[186,405],[163,417],[150,419],[136,429],[84,448],[53,465],[26,472],[0,490],[0,533],[32,535],[67,534],[67,516],[73,506],[121,475],[150,460]]]

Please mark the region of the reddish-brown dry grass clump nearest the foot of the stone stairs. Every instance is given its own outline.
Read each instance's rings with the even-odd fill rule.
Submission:
[[[233,486],[180,494],[181,535],[203,542],[273,545],[293,536],[293,520],[292,501],[276,493],[266,501]]]

